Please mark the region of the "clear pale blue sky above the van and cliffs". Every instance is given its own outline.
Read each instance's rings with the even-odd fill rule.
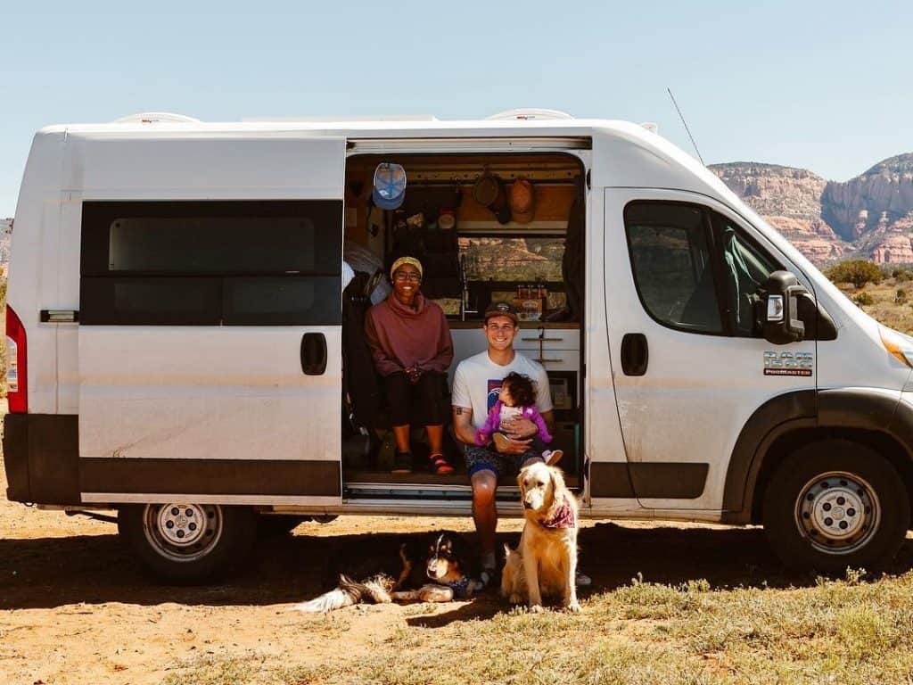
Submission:
[[[13,5],[13,6],[11,6]],[[25,3],[0,5],[0,216],[50,123],[514,107],[656,121],[707,163],[834,180],[913,152],[913,3]],[[173,9],[174,8],[174,9]]]

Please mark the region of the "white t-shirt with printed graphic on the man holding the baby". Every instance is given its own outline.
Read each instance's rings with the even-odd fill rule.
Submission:
[[[519,352],[514,352],[513,361],[506,366],[495,364],[488,358],[488,350],[464,359],[456,366],[451,404],[472,408],[472,425],[479,429],[485,426],[485,418],[491,407],[498,402],[501,381],[515,371],[528,375],[536,385],[536,408],[539,413],[551,411],[551,388],[549,375],[541,364],[533,362]]]

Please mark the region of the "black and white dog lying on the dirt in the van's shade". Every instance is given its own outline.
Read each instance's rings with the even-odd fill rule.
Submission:
[[[336,589],[293,608],[316,613],[356,604],[450,602],[472,596],[482,587],[477,580],[475,555],[457,532],[434,532],[410,539],[400,545],[399,558],[398,573],[375,573],[363,581],[352,580],[352,576],[359,577],[357,571],[341,573]],[[355,568],[365,559],[353,561],[346,565]]]

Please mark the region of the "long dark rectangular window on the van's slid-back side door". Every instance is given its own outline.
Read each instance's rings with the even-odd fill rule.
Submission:
[[[338,201],[86,202],[79,321],[341,322]]]

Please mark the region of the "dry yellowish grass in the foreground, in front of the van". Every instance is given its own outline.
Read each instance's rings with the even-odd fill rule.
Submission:
[[[913,573],[866,582],[849,572],[787,589],[634,579],[587,599],[581,615],[505,607],[448,621],[404,612],[404,625],[367,657],[340,653],[317,668],[251,654],[203,659],[166,682],[911,683],[911,593]]]

